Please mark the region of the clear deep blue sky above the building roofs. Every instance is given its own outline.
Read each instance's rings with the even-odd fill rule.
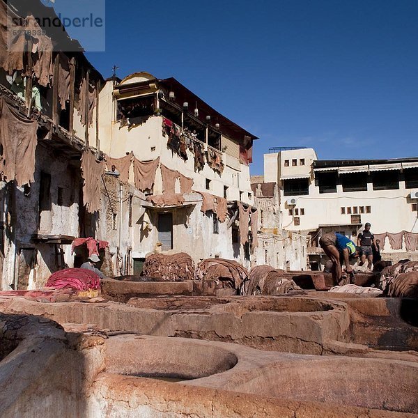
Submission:
[[[57,0],[58,2],[58,0]],[[418,1],[106,1],[104,77],[175,77],[272,146],[418,155]]]

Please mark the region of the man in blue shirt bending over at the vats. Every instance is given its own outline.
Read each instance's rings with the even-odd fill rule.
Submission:
[[[353,272],[350,265],[350,258],[362,255],[362,249],[356,247],[352,240],[349,240],[341,233],[331,232],[323,235],[319,240],[320,247],[332,261],[332,278],[340,286],[347,284],[347,274]],[[346,265],[346,273],[343,274],[341,266]]]

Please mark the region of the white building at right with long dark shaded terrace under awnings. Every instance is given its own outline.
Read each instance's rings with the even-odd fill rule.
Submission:
[[[280,185],[283,228],[310,235],[311,268],[322,263],[323,233],[338,231],[357,243],[366,222],[384,245],[384,259],[418,258],[418,157],[318,160],[311,148],[272,151],[264,155],[265,181]]]

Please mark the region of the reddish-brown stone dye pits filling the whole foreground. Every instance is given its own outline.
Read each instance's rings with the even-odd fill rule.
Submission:
[[[0,415],[418,416],[415,307],[321,292],[2,297]]]

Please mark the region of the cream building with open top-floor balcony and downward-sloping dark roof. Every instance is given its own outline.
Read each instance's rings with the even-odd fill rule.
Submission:
[[[137,274],[157,242],[163,252],[185,251],[195,261],[220,257],[249,266],[250,242],[241,245],[238,218],[231,222],[231,217],[238,211],[237,202],[254,205],[249,182],[254,135],[176,79],[157,79],[146,72],[107,81],[100,93],[99,132],[100,150],[116,159],[112,161],[130,153],[133,160],[160,161],[150,189],[135,185],[134,164],[127,181],[108,187],[108,192],[121,189],[114,193],[111,216],[98,221],[98,238],[109,240],[115,266],[118,254],[124,260],[115,274]],[[183,193],[185,202],[156,206],[147,201],[167,194],[162,169],[191,179],[192,191]],[[105,178],[109,183],[109,176]],[[179,180],[173,187],[172,192],[182,192]],[[201,212],[202,196],[197,192],[226,199],[227,219],[222,222],[212,210]],[[101,212],[109,212],[109,199],[104,197],[101,205]]]

